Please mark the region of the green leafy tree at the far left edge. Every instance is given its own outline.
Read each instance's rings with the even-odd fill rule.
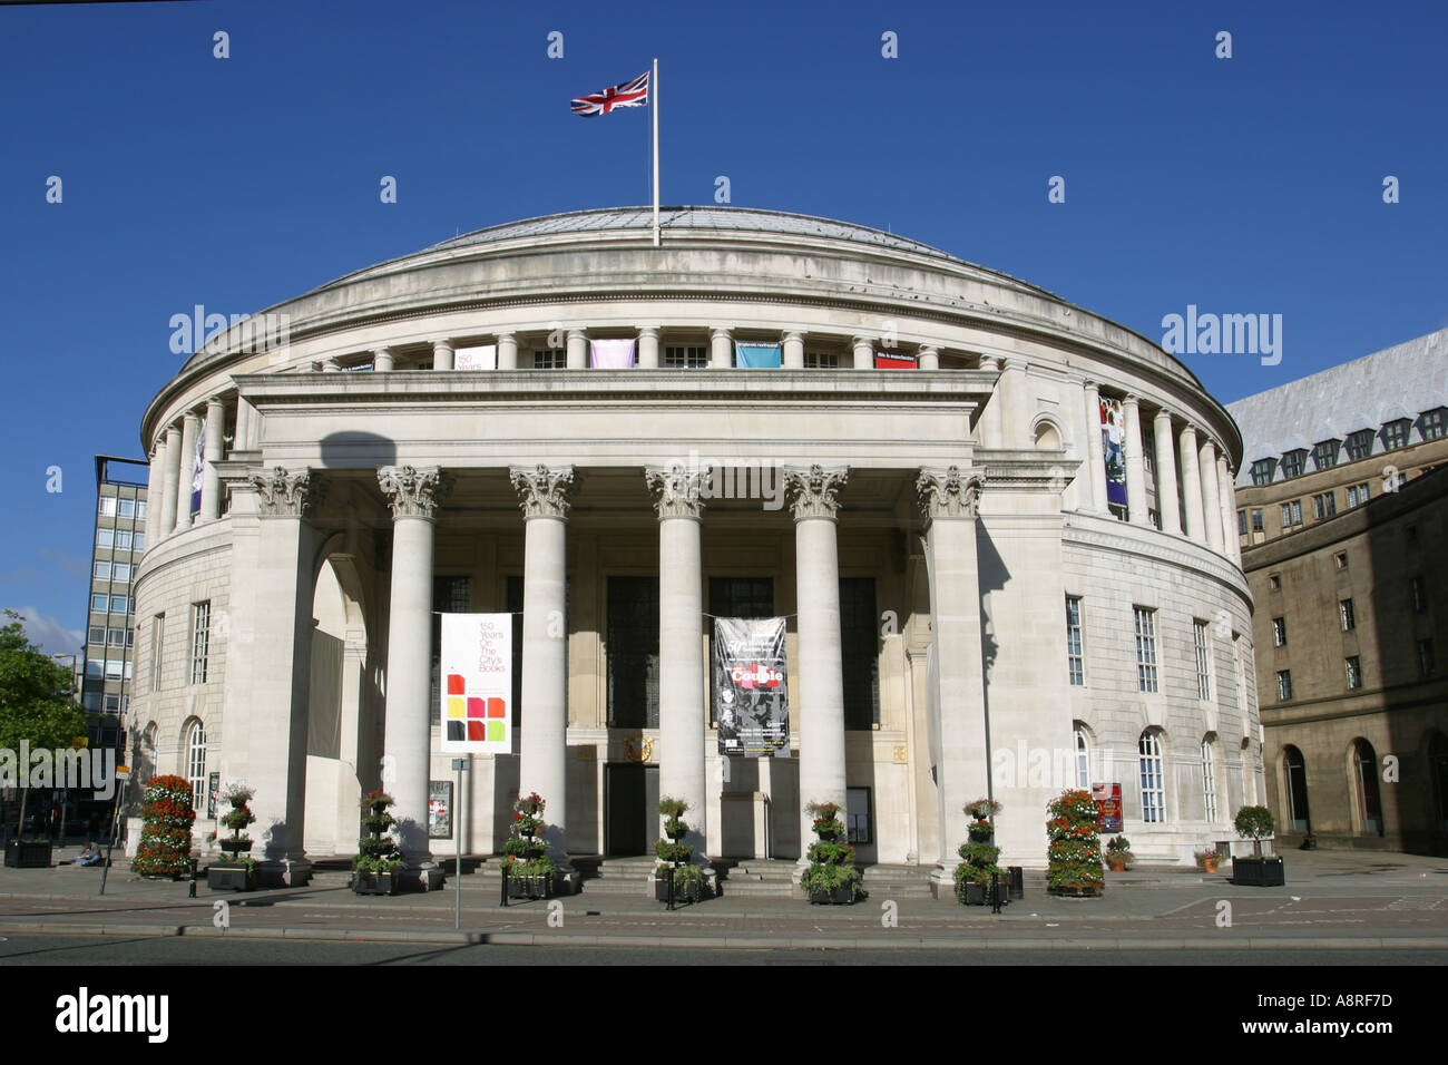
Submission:
[[[85,714],[71,693],[71,671],[26,639],[20,614],[6,610],[4,616],[10,622],[0,627],[0,749],[16,752],[19,759],[22,742],[32,751],[70,748],[85,735]],[[22,829],[29,768],[16,765]]]

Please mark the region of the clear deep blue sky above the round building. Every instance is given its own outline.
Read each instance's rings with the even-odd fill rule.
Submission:
[[[78,648],[93,456],[140,454],[172,314],[646,203],[647,112],[568,101],[653,57],[665,203],[725,175],[737,206],[888,227],[1153,339],[1187,304],[1281,314],[1280,365],[1184,356],[1224,401],[1441,329],[1445,30],[1442,3],[0,7],[0,606]]]

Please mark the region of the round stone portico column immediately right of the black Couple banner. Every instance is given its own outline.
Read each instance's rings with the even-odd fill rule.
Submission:
[[[840,645],[838,494],[849,467],[785,468],[795,516],[795,610],[799,635],[799,804],[838,803],[844,794],[844,674]],[[808,865],[814,819],[799,811],[799,864]]]

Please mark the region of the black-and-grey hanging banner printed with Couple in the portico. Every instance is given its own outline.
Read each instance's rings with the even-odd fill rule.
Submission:
[[[783,617],[714,619],[714,706],[720,753],[789,756]]]

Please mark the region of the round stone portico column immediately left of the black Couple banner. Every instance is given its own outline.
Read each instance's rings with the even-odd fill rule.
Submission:
[[[699,487],[708,467],[649,467],[659,513],[659,794],[689,804],[685,843],[705,861],[708,785],[704,771],[704,564]],[[524,733],[526,735],[526,733]],[[660,819],[662,835],[662,819]],[[707,862],[705,862],[707,864]]]

